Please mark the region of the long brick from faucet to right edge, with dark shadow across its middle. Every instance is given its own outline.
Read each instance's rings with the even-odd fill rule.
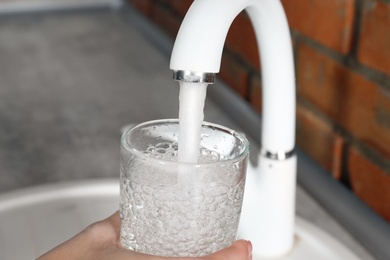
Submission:
[[[298,94],[390,158],[390,93],[307,45],[298,53]]]

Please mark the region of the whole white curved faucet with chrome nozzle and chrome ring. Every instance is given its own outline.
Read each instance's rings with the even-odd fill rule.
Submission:
[[[179,29],[170,68],[175,80],[213,83],[229,27],[243,10],[261,54],[263,123],[258,166],[248,165],[238,235],[252,242],[254,256],[280,257],[294,244],[297,168],[294,62],[281,2],[195,0]]]

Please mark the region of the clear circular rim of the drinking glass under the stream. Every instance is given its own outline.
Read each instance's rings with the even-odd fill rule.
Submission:
[[[139,123],[139,124],[136,124],[136,125],[129,127],[123,133],[123,135],[121,137],[122,148],[129,151],[131,154],[133,154],[134,156],[136,156],[137,158],[139,158],[141,160],[145,160],[145,161],[148,160],[148,161],[152,161],[154,163],[164,164],[164,165],[179,165],[179,164],[180,165],[188,165],[188,166],[192,166],[192,167],[196,167],[196,168],[205,167],[205,166],[209,167],[209,166],[221,165],[221,164],[224,164],[224,165],[232,164],[232,163],[243,160],[249,154],[250,143],[249,143],[248,139],[245,137],[245,135],[243,135],[237,131],[234,131],[228,127],[218,125],[215,123],[206,122],[206,121],[202,122],[202,128],[203,127],[212,128],[212,129],[215,129],[215,130],[218,130],[218,131],[221,131],[224,133],[228,133],[228,134],[234,136],[235,138],[239,139],[244,144],[245,148],[243,149],[243,151],[240,154],[238,154],[237,156],[235,156],[234,158],[230,158],[230,159],[226,159],[226,160],[218,160],[218,161],[212,161],[212,162],[196,162],[196,163],[178,162],[178,161],[171,161],[171,160],[167,160],[167,159],[149,157],[149,156],[145,155],[143,152],[141,152],[141,151],[135,149],[133,146],[131,146],[131,144],[129,144],[129,142],[126,138],[126,136],[128,136],[132,131],[134,131],[138,128],[141,128],[141,127],[144,127],[147,125],[166,124],[166,123],[178,124],[179,119],[157,119],[157,120],[146,121],[146,122]]]

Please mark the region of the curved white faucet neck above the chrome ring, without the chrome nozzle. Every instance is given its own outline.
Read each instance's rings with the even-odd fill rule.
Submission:
[[[258,42],[263,85],[262,149],[288,153],[295,146],[295,76],[287,19],[279,0],[196,0],[172,51],[174,71],[217,73],[226,35],[246,10]]]

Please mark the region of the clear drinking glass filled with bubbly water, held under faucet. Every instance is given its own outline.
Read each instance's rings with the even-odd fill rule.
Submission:
[[[178,120],[127,130],[121,139],[124,247],[158,256],[204,256],[237,237],[249,143],[204,123],[198,163],[177,162]]]

